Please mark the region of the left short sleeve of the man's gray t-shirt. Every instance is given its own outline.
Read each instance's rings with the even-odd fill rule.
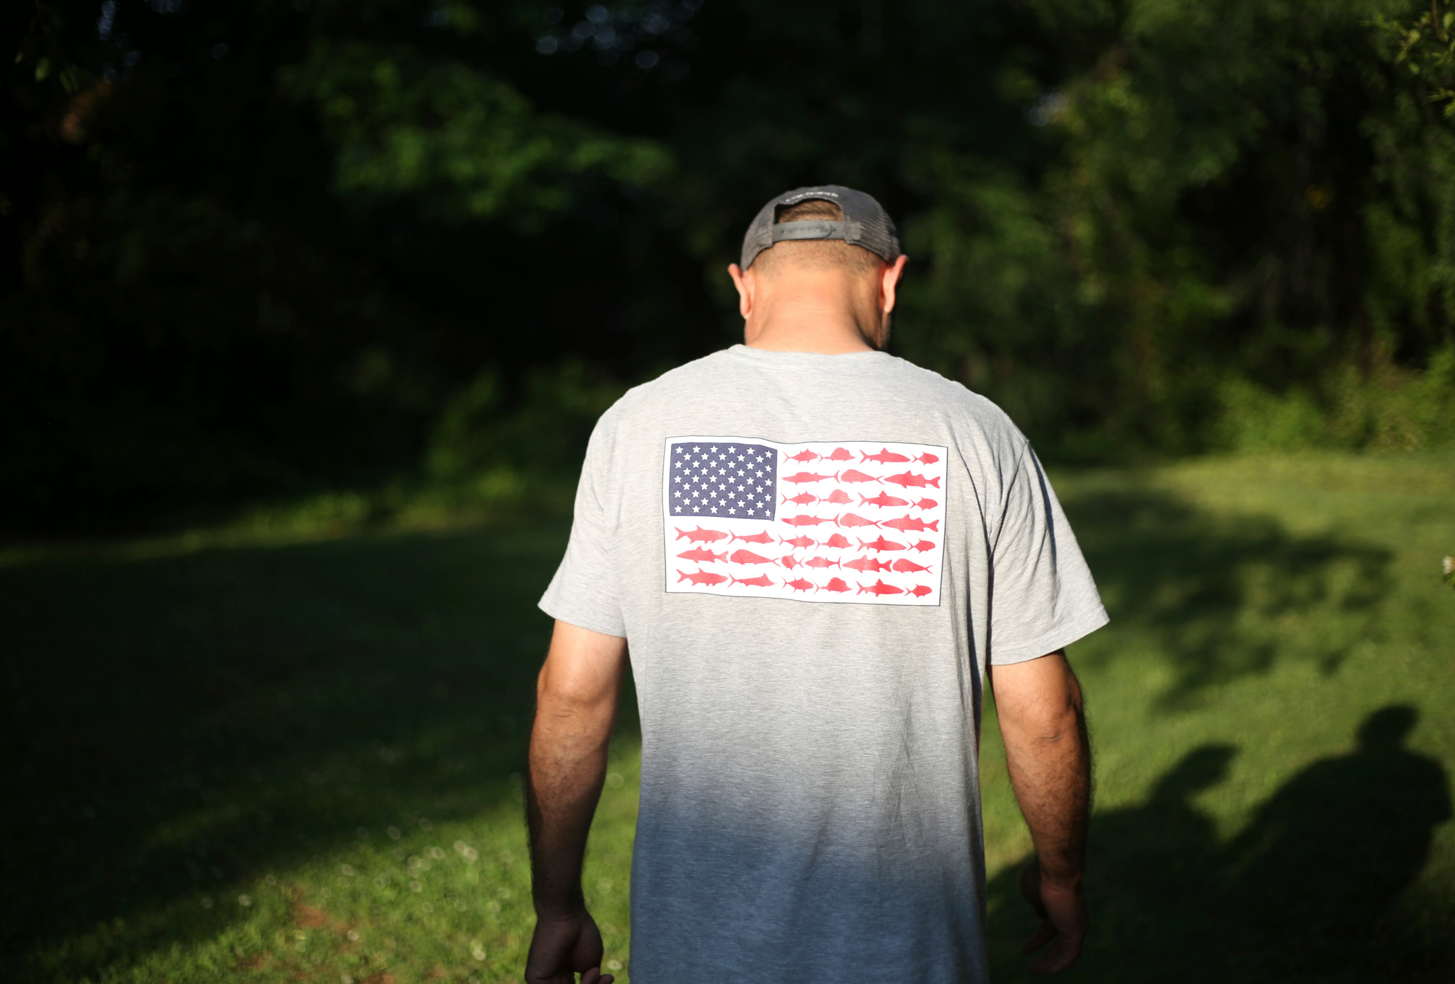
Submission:
[[[626,637],[617,570],[613,564],[615,523],[610,507],[611,414],[591,433],[576,485],[576,509],[566,555],[541,596],[543,612],[604,635]]]

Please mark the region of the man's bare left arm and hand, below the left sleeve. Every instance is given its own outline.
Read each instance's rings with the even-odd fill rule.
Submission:
[[[531,833],[535,935],[530,984],[611,984],[601,932],[581,892],[586,834],[607,776],[607,746],[626,674],[627,641],[556,622],[535,683],[525,815]]]

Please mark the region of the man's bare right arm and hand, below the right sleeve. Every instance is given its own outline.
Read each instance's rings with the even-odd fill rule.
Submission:
[[[1020,890],[1042,924],[1024,952],[1032,974],[1059,974],[1081,955],[1087,904],[1081,892],[1091,811],[1091,743],[1081,685],[1065,651],[991,667],[1005,765],[1036,844]],[[1049,946],[1048,946],[1049,943]],[[1045,949],[1042,949],[1045,948]]]

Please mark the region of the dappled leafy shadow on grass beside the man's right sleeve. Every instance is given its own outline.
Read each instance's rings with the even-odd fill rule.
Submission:
[[[1113,622],[1151,634],[1176,661],[1164,706],[1279,660],[1331,673],[1353,645],[1379,635],[1387,549],[1295,535],[1266,516],[1212,513],[1145,488],[1071,494],[1065,507]],[[1301,626],[1289,628],[1289,616]],[[1334,622],[1340,632],[1321,631]],[[1083,658],[1099,658],[1094,647]]]

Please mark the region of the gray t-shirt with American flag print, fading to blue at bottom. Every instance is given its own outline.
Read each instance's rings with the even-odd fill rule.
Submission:
[[[985,980],[985,666],[1107,618],[1000,408],[877,352],[674,369],[597,424],[541,608],[631,654],[634,984]]]

